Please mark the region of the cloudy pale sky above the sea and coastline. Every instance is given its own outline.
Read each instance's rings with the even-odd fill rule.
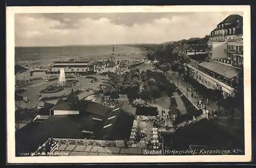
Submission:
[[[162,43],[204,37],[230,14],[20,13],[15,14],[15,46]]]

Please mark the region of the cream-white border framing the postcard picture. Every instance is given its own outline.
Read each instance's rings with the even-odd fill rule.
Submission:
[[[61,156],[15,157],[14,14],[127,12],[243,12],[245,155],[223,156]],[[247,162],[251,161],[250,6],[70,6],[7,7],[7,163],[121,163],[121,162]]]

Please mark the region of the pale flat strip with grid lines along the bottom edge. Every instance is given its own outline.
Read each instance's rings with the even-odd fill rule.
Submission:
[[[110,156],[142,155],[141,148],[98,147],[84,145],[60,145],[55,156]]]

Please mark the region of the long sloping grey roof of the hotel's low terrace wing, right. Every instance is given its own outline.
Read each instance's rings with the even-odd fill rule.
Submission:
[[[217,63],[217,62],[214,62],[214,61],[201,62],[198,65],[200,65],[204,68],[207,68],[209,70],[212,70],[215,73],[223,75],[224,77],[229,78],[229,79],[238,76],[238,73],[239,73],[238,69],[236,69],[236,68],[233,68],[231,66],[224,65],[224,64],[221,64],[221,63]]]

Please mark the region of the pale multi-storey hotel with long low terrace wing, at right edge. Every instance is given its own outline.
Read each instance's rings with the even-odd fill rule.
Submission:
[[[220,89],[224,98],[234,97],[243,70],[243,17],[229,15],[210,32],[204,60],[191,61],[190,75],[209,89]]]

